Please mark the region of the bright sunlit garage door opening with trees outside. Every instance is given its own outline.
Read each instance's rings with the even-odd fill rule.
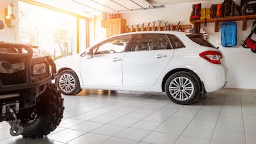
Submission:
[[[86,20],[22,1],[19,9],[19,42],[39,46],[40,54],[53,59],[86,48]]]

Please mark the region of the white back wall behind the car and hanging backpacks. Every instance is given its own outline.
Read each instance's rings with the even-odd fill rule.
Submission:
[[[214,1],[214,3],[221,3],[223,1]],[[213,1],[202,2],[202,7],[210,7],[214,4]],[[240,0],[236,0],[239,5]],[[192,11],[192,4],[173,5],[166,8],[138,10],[129,13],[121,14],[122,18],[127,20],[127,25],[135,25],[141,23],[152,22],[156,20],[168,21],[170,23],[177,23],[182,21],[183,24],[189,23],[189,16]],[[214,32],[214,23],[208,23],[205,30],[208,31],[209,41],[215,46],[219,46],[219,50],[223,51],[227,66],[229,67],[229,82],[227,87],[240,89],[256,89],[256,53],[251,50],[242,48],[240,43],[249,34],[253,20],[248,21],[246,31],[242,31],[242,21],[237,21],[237,45],[236,48],[223,48],[221,46],[221,29],[219,32]],[[203,27],[203,24],[201,24]],[[219,23],[221,27],[221,22]]]

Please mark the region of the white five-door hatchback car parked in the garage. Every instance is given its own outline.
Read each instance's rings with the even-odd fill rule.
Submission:
[[[63,94],[81,89],[165,92],[192,104],[227,83],[221,51],[198,34],[147,31],[112,36],[84,53],[56,61]]]

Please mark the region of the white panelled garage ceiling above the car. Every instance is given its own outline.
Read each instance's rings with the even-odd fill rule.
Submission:
[[[165,7],[180,3],[210,0],[20,0],[35,1],[51,7],[67,10],[88,18],[101,14],[131,12],[149,8]]]

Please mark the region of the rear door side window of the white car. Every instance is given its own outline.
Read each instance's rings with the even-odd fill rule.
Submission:
[[[133,45],[133,51],[172,49],[165,34],[138,35]]]

